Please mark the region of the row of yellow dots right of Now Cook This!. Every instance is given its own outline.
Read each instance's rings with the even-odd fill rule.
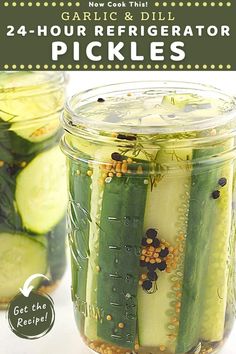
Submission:
[[[164,2],[155,2],[156,7],[231,7],[232,3],[230,1],[164,1]]]

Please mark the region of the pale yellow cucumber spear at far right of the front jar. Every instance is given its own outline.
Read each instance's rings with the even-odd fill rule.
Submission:
[[[233,141],[229,147],[233,147]],[[205,272],[205,297],[202,308],[200,337],[217,342],[223,339],[227,304],[227,283],[229,278],[228,254],[232,223],[232,179],[233,162],[226,162],[218,168],[218,177],[224,177],[227,184],[220,188],[212,226],[213,242]]]

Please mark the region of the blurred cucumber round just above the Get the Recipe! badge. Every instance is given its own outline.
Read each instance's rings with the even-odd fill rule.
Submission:
[[[34,237],[0,233],[0,298],[11,298],[19,292],[26,279],[47,271],[46,247]],[[37,287],[41,279],[32,281]]]

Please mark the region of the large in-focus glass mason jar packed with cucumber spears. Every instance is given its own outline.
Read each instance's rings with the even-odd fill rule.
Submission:
[[[215,353],[234,321],[236,102],[134,82],[63,116],[72,298],[90,348]]]

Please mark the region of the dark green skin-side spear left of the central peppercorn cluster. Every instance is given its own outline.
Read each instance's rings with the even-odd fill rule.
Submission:
[[[101,211],[97,334],[102,340],[130,349],[134,348],[137,335],[139,258],[146,194],[143,176],[114,177],[105,184]],[[112,316],[111,321],[106,319],[107,315]],[[124,323],[123,329],[118,328],[119,323]]]

